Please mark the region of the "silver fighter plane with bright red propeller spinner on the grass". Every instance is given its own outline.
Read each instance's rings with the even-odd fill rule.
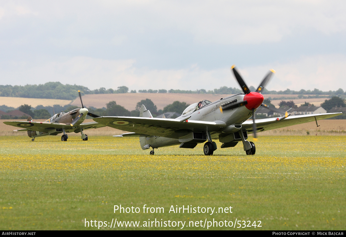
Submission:
[[[266,118],[255,120],[253,116],[258,107],[265,106],[261,91],[273,75],[271,70],[263,79],[255,92],[251,92],[235,67],[231,68],[244,93],[221,98],[215,102],[203,100],[187,107],[183,114],[176,119],[153,118],[150,111],[142,105],[140,117],[100,117],[93,120],[112,128],[129,131],[130,133],[115,137],[137,136],[142,149],[180,145],[181,148],[194,148],[198,143],[207,141],[203,151],[212,155],[217,149],[218,139],[221,148],[234,147],[238,142],[243,143],[247,155],[254,155],[255,144],[247,141],[248,134],[282,128],[295,124],[326,119],[342,113],[321,113],[309,115]],[[274,108],[273,108],[274,109]],[[252,120],[248,120],[253,117]]]

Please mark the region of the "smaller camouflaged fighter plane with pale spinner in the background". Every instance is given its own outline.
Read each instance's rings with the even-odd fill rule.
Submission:
[[[28,132],[28,136],[31,141],[35,140],[35,137],[42,137],[47,135],[58,135],[63,133],[61,136],[62,141],[67,141],[68,132],[80,132],[82,135],[83,141],[88,141],[88,135],[83,133],[83,130],[90,128],[101,128],[105,127],[103,124],[98,124],[97,122],[86,122],[83,124],[83,121],[86,115],[89,115],[93,118],[100,116],[90,113],[87,108],[84,108],[81,92],[79,92],[79,97],[81,99],[82,108],[73,109],[70,112],[56,113],[53,117],[47,119],[44,122],[35,122],[31,117],[27,121],[6,121],[4,124],[19,127],[21,129],[13,130],[16,132]]]

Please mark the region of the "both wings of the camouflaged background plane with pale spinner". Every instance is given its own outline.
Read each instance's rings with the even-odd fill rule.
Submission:
[[[98,124],[97,122],[86,122],[85,124],[80,124],[77,128],[71,127],[70,124],[61,124],[57,122],[35,122],[35,121],[6,121],[4,124],[11,125],[14,127],[22,128],[15,131],[39,131],[39,132],[48,132],[55,129],[65,129],[66,132],[76,131],[79,132],[79,127],[83,129],[90,128],[100,128],[104,127],[103,124]]]

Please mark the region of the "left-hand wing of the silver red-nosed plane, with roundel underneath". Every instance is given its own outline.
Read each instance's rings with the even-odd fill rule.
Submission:
[[[94,121],[106,126],[136,134],[178,139],[192,131],[217,132],[226,127],[222,121],[197,121],[148,117],[99,117]]]

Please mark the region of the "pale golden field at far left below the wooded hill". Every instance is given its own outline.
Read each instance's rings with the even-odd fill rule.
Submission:
[[[31,105],[36,107],[38,105],[53,106],[53,105],[68,105],[71,100],[57,100],[57,99],[36,99],[36,98],[21,98],[21,97],[0,97],[0,105],[18,108],[21,105]]]

